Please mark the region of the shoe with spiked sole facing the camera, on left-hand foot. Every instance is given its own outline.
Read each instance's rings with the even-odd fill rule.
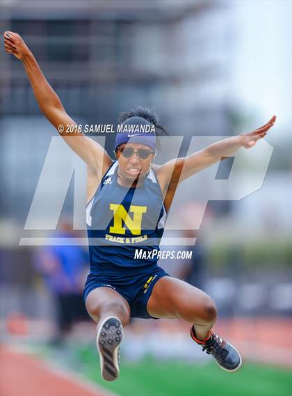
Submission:
[[[122,333],[122,322],[117,317],[107,317],[98,327],[97,349],[100,370],[106,381],[114,381],[119,376]]]

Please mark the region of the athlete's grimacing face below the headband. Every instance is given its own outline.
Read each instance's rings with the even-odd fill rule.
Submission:
[[[138,144],[138,143],[127,143],[121,144],[120,148],[131,148],[133,150],[149,150],[152,151],[148,145]],[[119,168],[122,173],[129,177],[136,179],[140,174],[143,175],[147,173],[151,162],[154,159],[154,152],[152,152],[149,157],[142,159],[138,156],[138,152],[134,152],[129,158],[125,158],[120,150],[117,150],[117,160],[119,161]]]

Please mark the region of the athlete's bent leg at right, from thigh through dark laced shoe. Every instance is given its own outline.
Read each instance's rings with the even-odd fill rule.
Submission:
[[[154,317],[181,318],[192,323],[191,337],[223,370],[234,372],[241,367],[237,349],[210,331],[216,322],[217,310],[214,301],[202,290],[165,276],[154,285],[147,310]]]

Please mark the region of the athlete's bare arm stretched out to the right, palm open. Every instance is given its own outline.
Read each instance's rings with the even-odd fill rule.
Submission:
[[[276,116],[273,116],[265,125],[254,129],[252,132],[223,139],[207,146],[204,150],[194,152],[188,157],[172,159],[161,166],[159,172],[167,174],[168,170],[170,170],[172,173],[170,184],[177,184],[202,171],[202,169],[215,164],[220,159],[232,157],[239,148],[252,148],[259,139],[266,136],[268,129],[273,127],[275,120]]]

